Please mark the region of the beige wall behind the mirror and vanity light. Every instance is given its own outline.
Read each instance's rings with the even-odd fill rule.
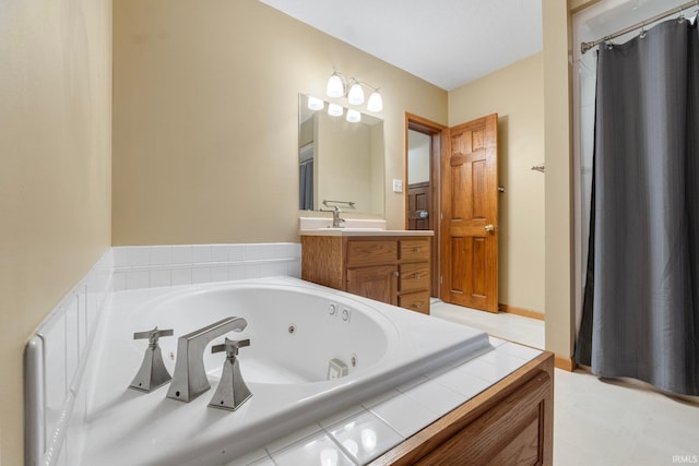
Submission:
[[[405,111],[447,121],[446,91],[256,0],[123,0],[114,17],[115,246],[298,240],[298,93],[323,96],[333,65],[381,87],[387,180]]]

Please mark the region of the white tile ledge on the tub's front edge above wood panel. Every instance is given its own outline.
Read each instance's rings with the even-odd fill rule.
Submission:
[[[494,337],[490,345],[495,349],[477,358],[427,373],[226,466],[367,464],[542,354]]]

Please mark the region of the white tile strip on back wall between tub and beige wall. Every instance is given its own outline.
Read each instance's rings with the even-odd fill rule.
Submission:
[[[301,247],[296,242],[129,246],[114,248],[114,256],[115,291],[301,276]]]

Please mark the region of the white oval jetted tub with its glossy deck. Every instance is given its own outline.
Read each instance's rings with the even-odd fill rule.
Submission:
[[[250,338],[239,361],[252,397],[236,411],[206,406],[225,360],[210,347],[212,390],[192,402],[167,398],[168,385],[127,389],[147,346],[134,332],[174,330],[159,340],[173,373],[177,337],[227,316],[248,326],[226,336]],[[288,277],[119,292],[88,361],[80,464],[222,464],[490,348],[485,333]],[[329,369],[333,359],[346,375]]]

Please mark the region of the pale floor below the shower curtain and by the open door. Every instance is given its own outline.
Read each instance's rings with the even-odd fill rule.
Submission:
[[[544,347],[544,322],[435,302],[440,319],[493,336]],[[699,403],[675,399],[640,383],[601,380],[556,369],[554,465],[699,465]]]

